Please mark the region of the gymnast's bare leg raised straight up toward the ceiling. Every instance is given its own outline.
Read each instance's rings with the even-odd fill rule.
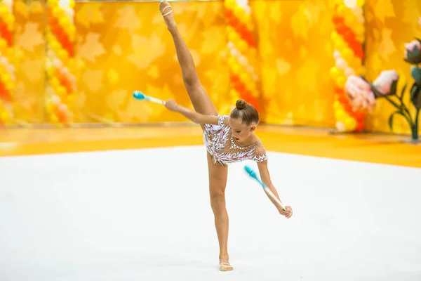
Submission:
[[[203,115],[218,115],[215,105],[213,105],[212,100],[210,100],[208,94],[205,89],[203,89],[203,86],[199,81],[192,54],[189,52],[185,41],[182,39],[181,34],[178,31],[174,15],[171,13],[171,5],[168,4],[167,1],[161,1],[159,3],[159,10],[161,11],[168,30],[173,37],[175,52],[177,53],[178,63],[180,63],[182,71],[182,79],[187,93],[189,94],[189,98],[192,101],[194,110]]]

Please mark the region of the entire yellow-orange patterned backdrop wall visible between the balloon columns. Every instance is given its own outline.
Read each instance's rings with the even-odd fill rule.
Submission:
[[[334,65],[330,32],[333,0],[252,0],[258,36],[262,119],[274,124],[334,126]],[[202,84],[221,114],[229,109],[227,38],[222,1],[172,2]],[[15,53],[18,86],[15,114],[29,123],[44,116],[45,7],[15,1]],[[403,44],[421,37],[417,19],[421,2],[367,0],[367,77],[396,68],[406,81]],[[76,3],[76,60],[81,67],[74,106],[76,122],[181,122],[184,117],[159,105],[133,100],[134,90],[158,98],[175,98],[190,107],[182,85],[171,36],[156,2]],[[389,131],[392,111],[380,100],[368,128]],[[408,133],[396,118],[396,132]]]

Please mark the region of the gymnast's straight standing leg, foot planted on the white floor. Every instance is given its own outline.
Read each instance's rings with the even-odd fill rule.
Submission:
[[[215,216],[215,228],[220,247],[220,270],[232,270],[228,255],[228,213],[225,207],[225,187],[227,186],[228,167],[213,164],[208,152],[210,206]]]

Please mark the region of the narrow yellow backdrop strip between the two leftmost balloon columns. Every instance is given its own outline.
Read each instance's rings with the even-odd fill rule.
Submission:
[[[13,113],[18,122],[44,122],[45,7],[39,1],[14,3],[16,91]]]

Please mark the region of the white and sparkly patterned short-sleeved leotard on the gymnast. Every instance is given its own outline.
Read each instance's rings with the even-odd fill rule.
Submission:
[[[265,148],[260,141],[246,147],[235,143],[227,116],[221,116],[218,125],[205,124],[203,142],[215,164],[225,166],[244,160],[262,162],[267,159]]]

